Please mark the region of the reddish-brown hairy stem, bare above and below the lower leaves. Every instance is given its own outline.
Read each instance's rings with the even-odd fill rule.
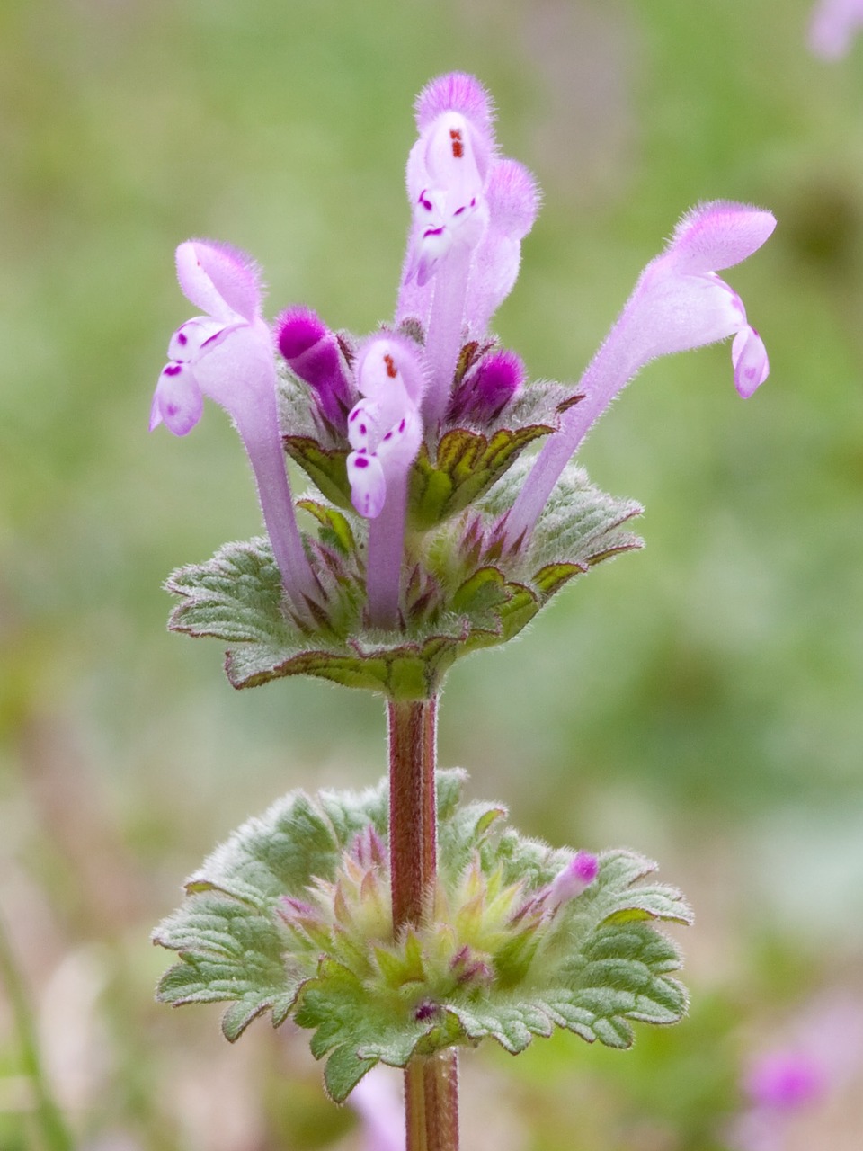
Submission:
[[[437,700],[390,700],[390,869],[398,932],[430,912],[437,871]],[[407,1151],[458,1151],[458,1055],[414,1057],[405,1068]]]

